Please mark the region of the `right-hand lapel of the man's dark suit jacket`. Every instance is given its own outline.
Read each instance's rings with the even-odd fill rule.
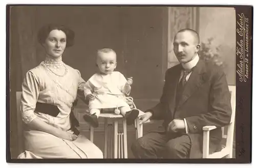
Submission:
[[[179,108],[186,100],[205,82],[205,63],[201,60],[198,61],[195,69],[192,71],[181,95],[178,107]]]

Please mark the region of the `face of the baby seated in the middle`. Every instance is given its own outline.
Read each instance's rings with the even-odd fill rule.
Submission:
[[[116,68],[116,54],[114,52],[98,53],[97,65],[101,73],[111,74]]]

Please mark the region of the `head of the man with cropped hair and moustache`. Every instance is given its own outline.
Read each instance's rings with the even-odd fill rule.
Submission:
[[[196,37],[189,31],[177,33],[174,38],[174,54],[180,63],[193,60],[200,49]]]

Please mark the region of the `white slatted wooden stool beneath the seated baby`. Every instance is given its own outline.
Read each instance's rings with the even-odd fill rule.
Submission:
[[[140,115],[143,115],[143,112]],[[139,116],[135,119],[136,138],[142,136],[142,125],[139,125]],[[114,137],[114,158],[127,158],[127,126],[126,119],[115,113],[101,113],[99,117],[104,118],[104,158],[112,158],[113,137]],[[118,121],[123,123],[123,132],[118,132]],[[112,122],[112,124],[108,124]],[[113,130],[114,128],[114,130]],[[112,131],[113,130],[113,131]],[[93,142],[94,128],[90,128],[91,141]],[[114,136],[112,136],[112,133]],[[108,148],[109,147],[109,148]],[[109,149],[109,150],[108,150]]]

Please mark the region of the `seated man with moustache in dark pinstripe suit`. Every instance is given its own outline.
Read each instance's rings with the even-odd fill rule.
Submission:
[[[221,127],[230,123],[230,94],[225,74],[220,67],[199,59],[198,33],[180,30],[173,45],[180,64],[166,71],[160,103],[146,110],[140,122],[164,119],[165,129],[137,139],[132,145],[136,158],[202,158],[202,128],[217,127],[210,132],[211,153],[222,139]]]

